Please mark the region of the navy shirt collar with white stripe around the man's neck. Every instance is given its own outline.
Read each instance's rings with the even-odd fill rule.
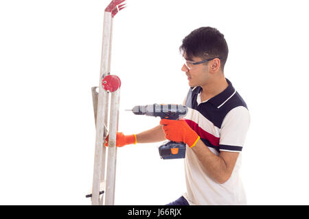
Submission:
[[[231,81],[229,81],[229,79],[227,79],[227,83],[229,84],[229,86],[227,86],[225,90],[220,92],[220,94],[217,94],[216,96],[212,97],[207,102],[213,104],[217,108],[222,107],[222,105],[224,105],[231,98],[231,96],[233,96],[236,93],[236,90],[235,88],[233,88],[233,85]],[[192,88],[192,92],[195,94],[199,94],[201,91],[202,91],[201,86]]]

